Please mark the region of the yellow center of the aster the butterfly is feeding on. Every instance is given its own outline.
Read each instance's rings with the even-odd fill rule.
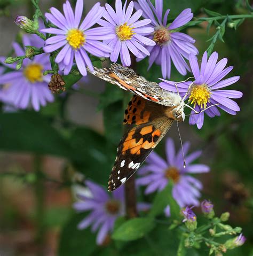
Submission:
[[[205,84],[197,85],[194,84],[191,94],[189,96],[189,102],[194,104],[194,107],[197,105],[206,108],[207,103],[210,102],[211,92]]]

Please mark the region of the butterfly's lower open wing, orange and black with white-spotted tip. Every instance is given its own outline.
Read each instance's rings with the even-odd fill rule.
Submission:
[[[121,138],[109,176],[108,191],[113,191],[125,183],[170,129],[173,120],[165,115],[165,108],[167,107],[133,96],[125,112],[124,123],[134,122],[137,126]]]

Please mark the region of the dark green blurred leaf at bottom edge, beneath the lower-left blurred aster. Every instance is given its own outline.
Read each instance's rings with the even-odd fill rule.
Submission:
[[[96,234],[90,229],[78,230],[85,215],[73,215],[61,230],[58,256],[89,256],[96,250]]]

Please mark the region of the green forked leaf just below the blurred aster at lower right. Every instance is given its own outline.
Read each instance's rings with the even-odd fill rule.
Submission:
[[[149,212],[149,216],[155,217],[163,213],[164,208],[169,205],[171,219],[178,219],[180,208],[176,201],[172,197],[172,183],[169,182],[167,187],[161,192],[157,193],[153,201],[152,208]]]

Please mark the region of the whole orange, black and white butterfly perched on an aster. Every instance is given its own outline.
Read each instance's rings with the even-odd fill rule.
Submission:
[[[124,125],[133,127],[121,138],[109,176],[108,191],[113,191],[143,164],[167,134],[173,121],[185,120],[184,107],[188,105],[184,103],[184,99],[187,94],[181,98],[179,93],[165,91],[159,84],[147,81],[131,68],[120,64],[112,64],[110,68],[94,67],[91,73],[134,94],[123,119]]]

